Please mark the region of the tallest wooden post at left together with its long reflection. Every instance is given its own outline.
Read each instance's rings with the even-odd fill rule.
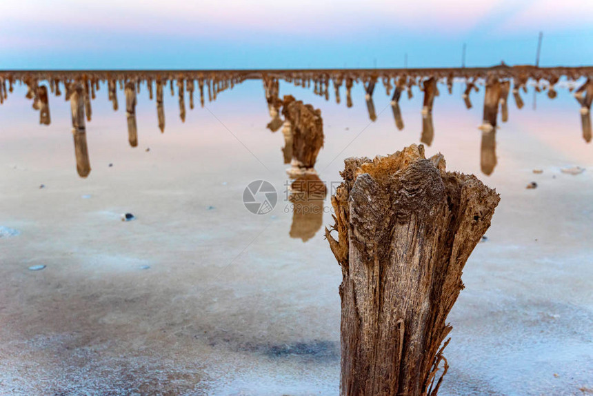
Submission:
[[[74,82],[70,83],[67,91],[66,95],[69,95],[72,108],[72,136],[74,137],[77,172],[80,177],[87,177],[90,173],[90,160],[84,122],[84,88],[81,83]]]

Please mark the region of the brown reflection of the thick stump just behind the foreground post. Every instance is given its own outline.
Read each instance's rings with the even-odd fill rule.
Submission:
[[[288,197],[292,203],[291,238],[300,238],[306,242],[319,231],[323,225],[323,201],[327,192],[325,183],[314,173],[292,182]]]

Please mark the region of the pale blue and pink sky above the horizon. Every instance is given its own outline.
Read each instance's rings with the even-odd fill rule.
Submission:
[[[592,0],[2,0],[0,69],[593,64]]]

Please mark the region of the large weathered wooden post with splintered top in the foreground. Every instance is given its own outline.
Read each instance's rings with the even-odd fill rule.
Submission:
[[[436,165],[435,165],[436,164]],[[465,261],[499,195],[422,146],[350,158],[332,197],[342,268],[340,394],[436,395]],[[439,368],[443,364],[440,378]]]

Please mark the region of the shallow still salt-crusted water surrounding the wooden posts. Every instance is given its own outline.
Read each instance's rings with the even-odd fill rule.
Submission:
[[[532,91],[522,110],[511,101],[487,176],[482,93],[465,110],[463,88],[449,96],[441,87],[427,155],[442,152],[449,170],[478,175],[501,203],[449,315],[441,394],[579,395],[593,388],[593,149],[578,103],[563,89],[553,101],[540,94],[536,111]],[[361,86],[348,109],[344,98],[280,82],[281,96],[321,109],[315,168],[330,192],[346,157],[419,143],[414,93],[401,99],[398,130],[382,86],[372,122]],[[51,124],[39,126],[25,94],[17,86],[0,106],[1,393],[338,393],[341,273],[323,240],[329,197],[322,216],[294,230],[303,219],[288,199],[282,132],[265,128],[261,81],[187,108],[185,122],[167,88],[164,133],[142,90],[137,148],[123,92],[114,112],[101,86],[86,126],[86,178],[77,175],[70,103],[51,97]],[[567,166],[585,172],[561,172]],[[243,205],[254,180],[278,192],[265,215]],[[538,187],[526,189],[532,181]],[[121,221],[126,212],[136,218]],[[35,265],[46,268],[28,270]]]

